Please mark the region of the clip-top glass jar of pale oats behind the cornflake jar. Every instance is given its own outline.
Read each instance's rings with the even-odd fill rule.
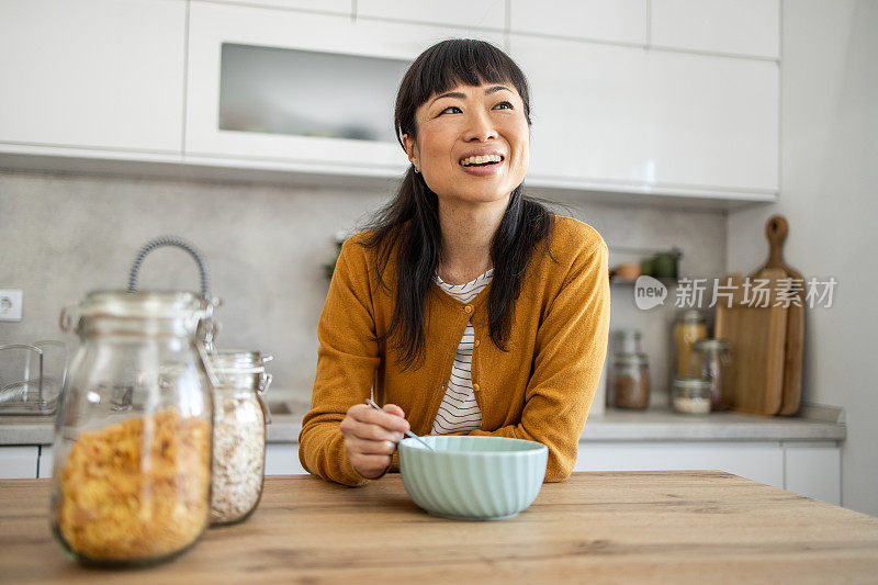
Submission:
[[[213,393],[213,474],[211,525],[247,519],[262,495],[268,407],[262,396],[271,384],[259,351],[209,353],[217,386]]]

